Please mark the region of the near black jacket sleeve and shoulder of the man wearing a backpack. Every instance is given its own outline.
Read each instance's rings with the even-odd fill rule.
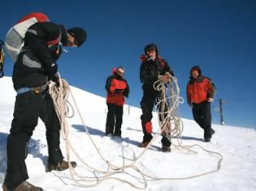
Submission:
[[[46,69],[48,75],[56,73],[58,68],[54,63],[54,57],[48,49],[47,42],[57,39],[60,34],[59,25],[51,22],[35,23],[25,34],[25,46],[33,49],[33,53],[40,60],[42,66]]]

